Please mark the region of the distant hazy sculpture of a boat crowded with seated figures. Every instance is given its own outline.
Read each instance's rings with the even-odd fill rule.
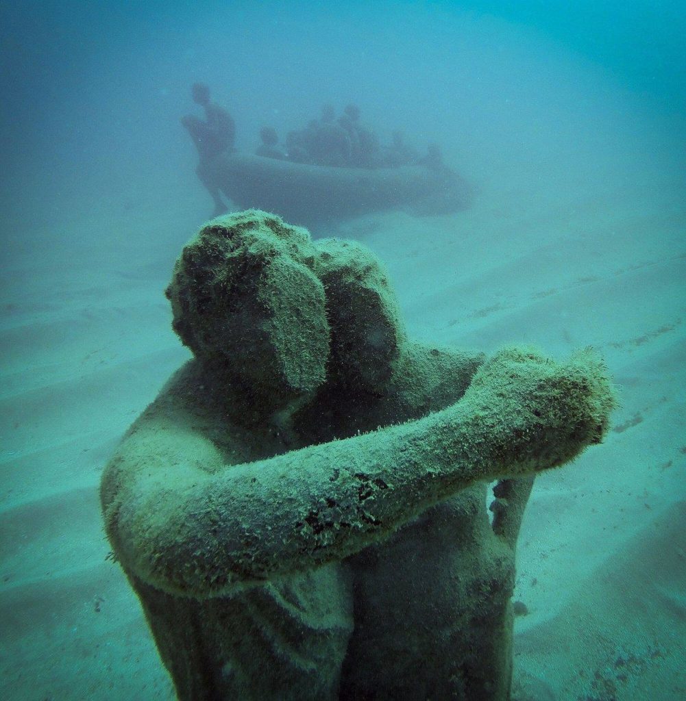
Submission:
[[[354,104],[338,121],[324,105],[321,119],[288,133],[286,151],[274,128],[264,127],[250,154],[234,149],[234,120],[210,100],[210,88],[194,83],[192,95],[206,119],[187,115],[181,123],[198,150],[196,175],[213,199],[213,217],[228,210],[223,196],[310,227],[383,210],[445,215],[469,206],[473,188],[457,172],[431,152],[415,156],[398,137],[380,149]]]

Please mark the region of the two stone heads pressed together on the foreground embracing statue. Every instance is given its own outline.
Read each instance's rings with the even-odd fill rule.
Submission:
[[[386,383],[404,332],[386,273],[360,244],[248,210],[213,219],[182,251],[166,290],[173,327],[203,362],[271,409],[325,382]]]

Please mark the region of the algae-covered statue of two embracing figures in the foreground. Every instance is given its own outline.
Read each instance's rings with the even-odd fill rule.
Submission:
[[[194,359],[102,505],[178,696],[509,698],[520,519],[607,430],[602,363],[412,341],[365,247],[264,212],[207,224],[167,294]]]

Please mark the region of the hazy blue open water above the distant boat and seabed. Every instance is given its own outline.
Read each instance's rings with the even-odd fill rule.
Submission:
[[[192,157],[177,118],[196,80],[234,114],[244,147],[260,125],[284,135],[330,100],[358,102],[382,134],[404,128],[418,144],[465,151],[496,131],[526,139],[532,120],[551,125],[560,100],[597,90],[573,69],[568,89],[560,83],[564,60],[578,59],[614,81],[606,90],[655,110],[655,130],[675,132],[671,148],[683,142],[679,2],[36,2],[1,11],[5,188],[22,208],[34,196],[58,206],[86,179],[94,198],[122,177],[142,191],[170,186],[170,172]]]

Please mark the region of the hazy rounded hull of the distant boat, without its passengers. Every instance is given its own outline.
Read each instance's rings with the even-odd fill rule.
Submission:
[[[471,198],[469,184],[443,166],[332,168],[233,152],[217,156],[206,172],[237,207],[308,227],[382,210],[450,214]]]

